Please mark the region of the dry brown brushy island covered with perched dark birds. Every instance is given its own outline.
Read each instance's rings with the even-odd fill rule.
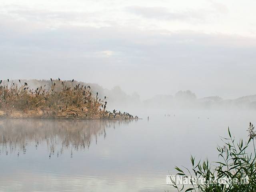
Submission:
[[[26,82],[0,80],[0,117],[2,118],[75,118],[137,119],[127,112],[106,110],[106,96],[92,94],[90,86],[74,80],[50,81],[49,85],[29,88]]]

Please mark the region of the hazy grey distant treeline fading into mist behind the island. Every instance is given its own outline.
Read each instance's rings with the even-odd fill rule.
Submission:
[[[22,83],[28,82],[30,87],[37,88],[46,84],[46,88],[50,88],[50,80],[21,80]],[[66,81],[67,86],[71,85],[71,81]],[[190,90],[179,91],[172,95],[154,95],[147,100],[141,100],[139,94],[126,94],[119,86],[112,89],[106,89],[94,83],[85,83],[74,81],[74,84],[91,87],[91,92],[95,95],[104,95],[108,99],[108,108],[114,109],[118,106],[120,109],[139,107],[139,108],[196,108],[196,109],[256,109],[256,95],[244,96],[234,100],[224,100],[219,96],[209,96],[197,98],[196,94]]]

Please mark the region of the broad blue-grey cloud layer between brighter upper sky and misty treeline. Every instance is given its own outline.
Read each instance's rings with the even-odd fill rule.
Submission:
[[[120,85],[142,99],[178,90],[198,97],[253,94],[256,39],[193,31],[59,26],[0,17],[1,78],[60,76]],[[248,86],[244,86],[244,85]],[[233,96],[234,95],[234,96]]]

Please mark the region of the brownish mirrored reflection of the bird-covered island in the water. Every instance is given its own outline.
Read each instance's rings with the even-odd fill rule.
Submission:
[[[0,154],[19,150],[26,153],[27,146],[36,148],[46,142],[50,154],[62,154],[63,150],[89,148],[92,138],[106,137],[106,128],[115,124],[127,124],[132,120],[0,120]],[[58,148],[56,147],[58,146]]]

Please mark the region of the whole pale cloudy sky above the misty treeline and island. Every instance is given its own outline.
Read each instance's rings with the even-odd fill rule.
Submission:
[[[254,0],[0,0],[0,79],[76,79],[142,99],[256,94]]]

